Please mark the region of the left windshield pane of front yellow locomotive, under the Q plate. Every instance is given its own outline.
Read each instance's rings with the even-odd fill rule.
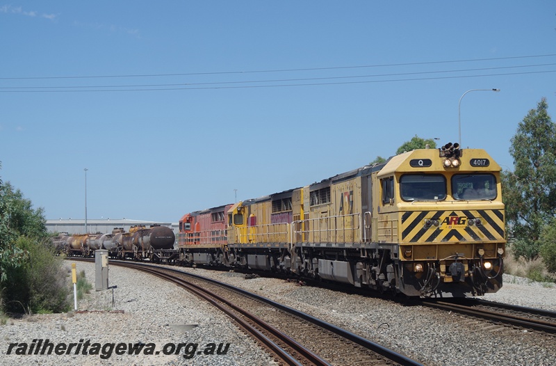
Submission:
[[[404,201],[444,200],[446,178],[439,174],[402,175],[400,194]]]

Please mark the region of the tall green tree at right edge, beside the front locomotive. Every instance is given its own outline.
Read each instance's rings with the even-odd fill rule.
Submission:
[[[502,174],[506,223],[514,256],[534,259],[541,230],[556,212],[556,125],[545,98],[519,123],[509,153],[514,172]]]

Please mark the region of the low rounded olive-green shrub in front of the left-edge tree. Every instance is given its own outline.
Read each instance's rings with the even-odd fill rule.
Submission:
[[[64,312],[70,308],[67,273],[49,241],[19,237],[25,250],[22,266],[10,269],[4,284],[4,307],[10,312]]]

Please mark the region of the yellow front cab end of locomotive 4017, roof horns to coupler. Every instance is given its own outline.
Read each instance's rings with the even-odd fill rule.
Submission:
[[[377,180],[377,241],[397,250],[391,259],[401,292],[473,296],[502,287],[500,166],[484,150],[448,144],[406,152]]]

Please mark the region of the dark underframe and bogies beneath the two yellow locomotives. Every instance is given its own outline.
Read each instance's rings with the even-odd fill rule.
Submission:
[[[223,254],[230,266],[291,272],[407,296],[477,296],[502,287],[501,255],[487,258],[493,267],[486,271],[483,257],[404,260],[398,253],[398,244],[270,243],[233,244]],[[415,271],[416,264],[422,271]]]

